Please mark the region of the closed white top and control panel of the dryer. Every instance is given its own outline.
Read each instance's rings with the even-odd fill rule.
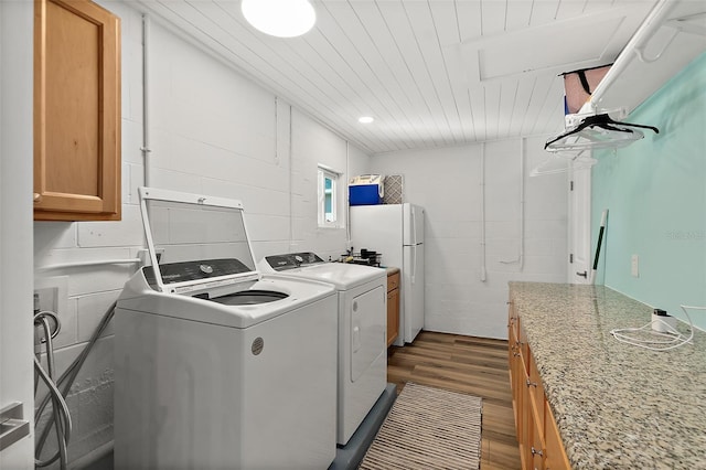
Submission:
[[[387,278],[385,269],[349,263],[327,263],[310,252],[266,256],[260,267],[263,271],[329,282],[336,290],[349,290],[375,280],[386,282]]]

